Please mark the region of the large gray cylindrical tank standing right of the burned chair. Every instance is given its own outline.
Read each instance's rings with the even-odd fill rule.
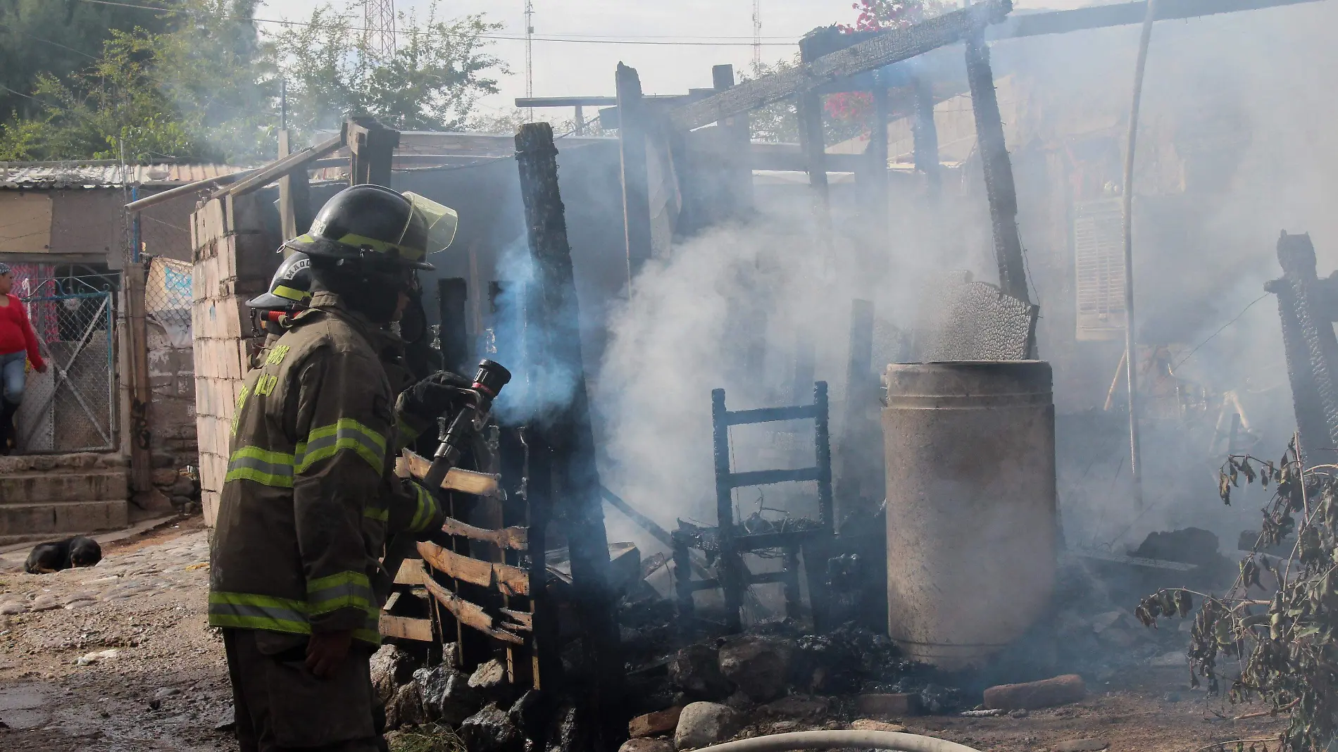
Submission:
[[[887,367],[888,634],[915,660],[979,665],[1054,589],[1054,400],[1042,361]]]

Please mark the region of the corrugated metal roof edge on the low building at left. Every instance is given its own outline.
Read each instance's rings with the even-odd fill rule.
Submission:
[[[177,186],[240,173],[233,165],[127,165],[119,162],[0,162],[0,189]]]

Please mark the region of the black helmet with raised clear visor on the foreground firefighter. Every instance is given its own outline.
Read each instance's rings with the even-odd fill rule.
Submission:
[[[415,193],[357,185],[334,194],[312,229],[284,245],[312,257],[431,269],[427,254],[455,240],[455,210]]]

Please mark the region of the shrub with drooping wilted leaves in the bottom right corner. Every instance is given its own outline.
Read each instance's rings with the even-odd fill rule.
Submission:
[[[1259,698],[1272,713],[1288,717],[1279,739],[1283,751],[1330,749],[1338,743],[1335,471],[1338,466],[1303,470],[1293,443],[1276,464],[1231,456],[1219,474],[1218,490],[1227,503],[1242,478],[1264,487],[1274,483],[1274,495],[1232,587],[1220,598],[1200,594],[1189,633],[1191,682],[1207,681],[1211,693],[1222,693],[1226,685],[1231,702]],[[1282,545],[1293,531],[1288,557],[1270,559],[1260,553]],[[1188,590],[1163,590],[1144,598],[1136,614],[1144,625],[1156,626],[1159,618],[1183,617],[1191,607]]]

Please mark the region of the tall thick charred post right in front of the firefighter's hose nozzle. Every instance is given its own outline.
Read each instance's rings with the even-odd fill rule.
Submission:
[[[566,388],[547,383],[553,373],[562,373],[562,381],[571,384],[561,407],[533,416],[531,431],[535,440],[547,447],[547,491],[571,551],[573,598],[582,625],[585,656],[593,661],[590,690],[595,717],[617,724],[622,702],[618,622],[609,583],[609,541],[599,503],[594,431],[581,353],[579,304],[558,191],[553,127],[526,123],[515,136],[515,149],[534,268],[524,300],[526,353],[534,365],[527,377],[531,391],[546,395]],[[543,367],[538,368],[541,363]],[[617,731],[613,727],[606,731],[611,736],[606,735],[603,743],[610,745]]]

